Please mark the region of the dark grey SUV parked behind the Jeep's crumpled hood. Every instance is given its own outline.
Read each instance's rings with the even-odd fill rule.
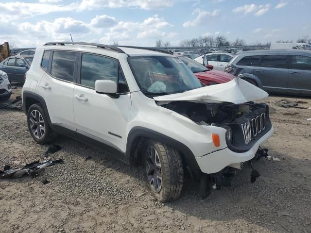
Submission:
[[[254,50],[239,53],[225,72],[269,93],[311,96],[311,51]]]

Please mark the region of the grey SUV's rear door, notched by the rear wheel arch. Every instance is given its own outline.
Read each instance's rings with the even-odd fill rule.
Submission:
[[[266,54],[261,57],[260,67],[254,68],[254,74],[262,82],[262,89],[268,92],[286,93],[288,60],[288,54]]]

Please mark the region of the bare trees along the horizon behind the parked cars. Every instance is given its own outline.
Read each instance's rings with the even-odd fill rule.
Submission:
[[[289,43],[293,40],[278,40],[276,43]],[[311,43],[311,38],[308,35],[300,37],[296,43]],[[271,42],[267,42],[264,45],[270,45]],[[229,41],[224,35],[217,36],[199,36],[197,38],[185,39],[179,43],[179,47],[224,47],[224,46],[245,46],[245,40],[236,38],[234,41]],[[261,42],[251,44],[253,46],[263,45]],[[155,47],[170,47],[171,42],[157,39],[155,41]]]

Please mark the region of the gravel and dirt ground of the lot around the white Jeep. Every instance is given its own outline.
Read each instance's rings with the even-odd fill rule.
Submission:
[[[270,102],[275,127],[262,146],[280,161],[256,162],[261,176],[255,183],[245,167],[232,187],[201,200],[199,183],[186,179],[179,200],[160,203],[149,194],[141,167],[61,136],[54,144],[62,150],[51,158],[64,164],[41,170],[37,178],[0,180],[0,232],[311,233],[311,109],[276,106],[283,98],[311,107],[310,98],[262,100]],[[34,142],[22,111],[0,110],[0,169],[33,162],[49,146]],[[42,184],[44,179],[50,183]]]

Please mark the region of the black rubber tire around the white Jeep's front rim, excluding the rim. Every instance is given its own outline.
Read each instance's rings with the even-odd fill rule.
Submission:
[[[153,148],[153,149],[151,149]],[[149,150],[149,151],[148,151]],[[162,176],[161,187],[155,190],[155,185],[150,182],[148,168],[150,164],[150,150],[156,150],[160,162]],[[148,139],[143,150],[144,176],[152,195],[161,202],[176,200],[180,196],[184,183],[184,169],[180,153],[175,148],[161,142]],[[157,186],[157,185],[156,185]]]

